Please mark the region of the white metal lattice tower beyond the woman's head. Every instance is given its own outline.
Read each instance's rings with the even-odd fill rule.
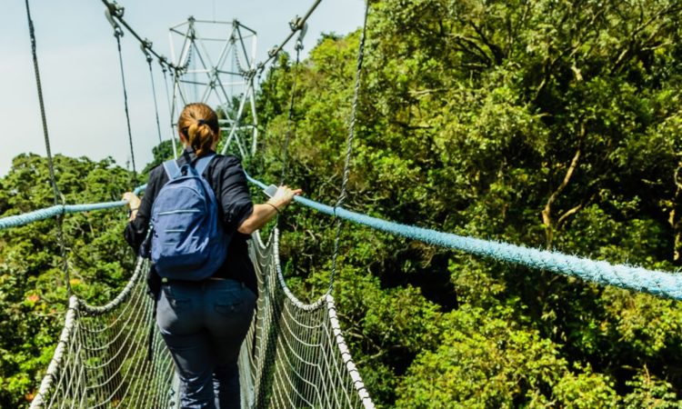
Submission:
[[[213,106],[226,135],[221,153],[256,154],[256,32],[237,20],[189,17],[170,28],[169,38],[173,63],[182,67],[174,80],[171,117],[191,102]]]

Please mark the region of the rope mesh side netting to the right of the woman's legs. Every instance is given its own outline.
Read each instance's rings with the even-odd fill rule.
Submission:
[[[278,231],[249,245],[258,304],[240,355],[242,407],[373,408],[326,294],[303,304],[285,284]]]

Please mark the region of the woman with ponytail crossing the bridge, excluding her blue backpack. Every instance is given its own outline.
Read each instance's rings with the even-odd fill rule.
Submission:
[[[208,105],[186,105],[177,129],[185,145],[176,162],[179,167],[215,153],[218,118]],[[254,205],[244,170],[231,155],[215,155],[203,176],[216,195],[226,237],[231,236],[226,261],[203,281],[161,280],[160,291],[155,294],[156,324],[183,383],[181,407],[238,408],[237,355],[254,314],[257,294],[246,240],[301,190],[280,186],[265,204]],[[155,197],[167,182],[164,166],[156,166],[149,174],[142,200],[130,192],[124,195],[130,206],[125,240],[135,251],[145,239]]]

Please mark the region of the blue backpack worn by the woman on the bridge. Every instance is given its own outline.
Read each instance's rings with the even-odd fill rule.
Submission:
[[[214,156],[198,159],[196,167],[164,162],[169,180],[155,198],[151,219],[151,258],[161,277],[200,281],[225,262],[228,237],[216,195],[202,176]]]

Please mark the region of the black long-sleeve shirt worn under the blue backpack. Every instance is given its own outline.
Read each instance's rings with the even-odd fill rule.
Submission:
[[[186,148],[183,155],[177,158],[178,167],[193,163],[196,155],[192,148]],[[251,195],[246,183],[246,175],[239,159],[232,155],[216,155],[206,166],[204,177],[211,185],[218,202],[220,220],[227,235],[232,240],[227,248],[225,263],[213,274],[214,277],[230,278],[246,284],[255,294],[257,293],[256,272],[248,258],[246,240],[247,234],[241,234],[236,229],[254,210]],[[135,252],[139,252],[140,245],[145,240],[152,205],[161,188],[168,182],[163,165],[158,165],[149,173],[149,182],[145,195],[137,210],[135,219],[125,226],[125,241]]]

